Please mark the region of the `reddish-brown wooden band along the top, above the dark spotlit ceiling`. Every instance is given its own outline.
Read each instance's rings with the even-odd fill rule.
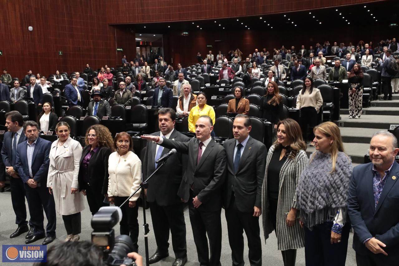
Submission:
[[[207,20],[275,14],[375,2],[375,0],[118,0],[108,10],[109,24]]]

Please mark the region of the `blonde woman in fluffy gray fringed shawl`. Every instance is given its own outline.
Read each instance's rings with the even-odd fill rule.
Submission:
[[[305,230],[306,266],[344,266],[350,222],[346,200],[352,162],[340,129],[332,122],[314,128],[316,151],[302,172],[296,194]]]

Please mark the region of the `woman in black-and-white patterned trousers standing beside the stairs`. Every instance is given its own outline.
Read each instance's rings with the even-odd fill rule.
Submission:
[[[349,118],[360,118],[363,101],[363,71],[359,64],[355,64],[348,75],[350,85],[349,94]]]

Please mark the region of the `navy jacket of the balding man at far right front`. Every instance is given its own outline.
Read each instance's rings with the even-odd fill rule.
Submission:
[[[396,265],[399,260],[399,164],[393,163],[377,207],[374,203],[372,163],[358,165],[353,169],[349,186],[348,214],[354,228],[353,248],[359,254],[372,254],[363,244],[375,237],[385,245],[382,254],[372,255],[381,262]],[[381,264],[383,265],[383,264]]]

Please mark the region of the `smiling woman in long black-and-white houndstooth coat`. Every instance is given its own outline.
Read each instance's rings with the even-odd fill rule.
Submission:
[[[267,153],[262,186],[265,240],[275,230],[284,266],[295,265],[296,249],[304,247],[304,231],[296,211],[296,187],[308,163],[299,124],[284,119],[277,124],[277,141]]]

